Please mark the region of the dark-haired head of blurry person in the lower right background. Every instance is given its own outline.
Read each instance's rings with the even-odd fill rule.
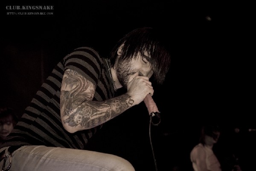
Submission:
[[[218,125],[205,125],[201,129],[199,142],[203,145],[214,145],[218,142],[220,134],[221,130]]]

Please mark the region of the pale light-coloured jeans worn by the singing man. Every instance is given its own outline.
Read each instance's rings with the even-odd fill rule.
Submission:
[[[0,149],[3,151],[6,148]],[[6,150],[5,169],[10,162]],[[3,160],[0,162],[2,168]],[[42,145],[22,146],[12,153],[9,171],[134,171],[127,160],[95,151]]]

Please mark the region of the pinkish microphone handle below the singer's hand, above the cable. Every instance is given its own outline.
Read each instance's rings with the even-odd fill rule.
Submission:
[[[150,94],[148,94],[143,101],[144,101],[146,107],[148,108],[149,115],[152,117],[151,124],[152,125],[160,124],[160,122],[161,122],[160,112],[157,108],[156,103],[150,96]]]

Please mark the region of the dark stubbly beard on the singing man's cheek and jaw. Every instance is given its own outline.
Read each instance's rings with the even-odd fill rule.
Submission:
[[[116,64],[116,76],[119,83],[127,89],[128,81],[130,75],[133,75],[135,72],[132,72],[132,64],[129,61],[118,61]]]

